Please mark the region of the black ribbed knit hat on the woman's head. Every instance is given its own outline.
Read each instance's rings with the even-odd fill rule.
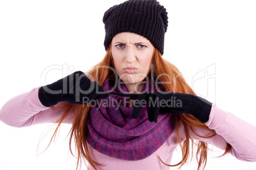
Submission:
[[[164,34],[168,26],[166,8],[156,0],[129,0],[104,13],[107,50],[115,35],[133,32],[146,37],[160,53],[164,53]]]

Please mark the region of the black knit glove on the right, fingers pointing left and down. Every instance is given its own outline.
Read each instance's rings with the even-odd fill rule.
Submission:
[[[154,92],[141,94],[122,94],[111,93],[112,95],[126,96],[131,99],[145,100],[148,104],[148,120],[150,122],[157,122],[159,112],[161,114],[191,114],[200,122],[207,122],[211,112],[211,105],[209,101],[199,96],[188,95],[184,93],[173,92]],[[141,111],[140,104],[134,105],[132,110],[132,117],[134,119],[139,117]]]

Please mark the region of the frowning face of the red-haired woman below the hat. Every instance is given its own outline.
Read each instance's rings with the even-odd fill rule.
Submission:
[[[122,32],[112,39],[111,51],[115,70],[125,84],[143,81],[153,56],[153,44],[143,36]]]

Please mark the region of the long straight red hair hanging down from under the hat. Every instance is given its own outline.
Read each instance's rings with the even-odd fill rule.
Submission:
[[[111,47],[111,44],[110,44]],[[157,75],[168,75],[168,76],[160,76],[159,81],[160,82],[169,82],[171,77],[171,83],[169,84],[163,84],[166,91],[172,91],[176,93],[187,93],[196,95],[192,88],[188,86],[187,82],[181,75],[180,71],[170,62],[167,60],[164,60],[162,58],[162,55],[160,54],[158,49],[154,49],[153,57],[152,57],[152,65],[153,65],[153,75],[157,77]],[[113,64],[113,57],[111,55],[111,48],[109,48],[106,51],[106,55],[104,56],[103,60],[94,67],[92,67],[88,72],[86,73],[90,79],[93,79],[94,81],[97,81],[100,86],[103,85],[104,79],[114,79],[115,74],[112,70],[108,69],[108,67],[114,68]],[[150,70],[151,72],[152,70]],[[99,74],[100,73],[100,74]],[[55,129],[55,132],[52,136],[55,138],[57,131],[60,128],[60,124],[65,121],[65,119],[68,117],[68,115],[71,113],[71,110],[75,112],[74,119],[73,119],[73,126],[70,133],[69,138],[69,149],[71,150],[71,144],[72,141],[75,141],[75,148],[77,153],[77,164],[76,169],[78,169],[79,164],[82,164],[82,160],[86,159],[89,164],[94,167],[94,169],[97,169],[96,166],[104,166],[103,164],[100,164],[100,162],[95,162],[91,157],[87,146],[87,117],[89,115],[90,106],[89,105],[71,105],[69,103],[65,103],[66,110],[62,117],[57,121],[58,126]],[[180,130],[178,126],[178,122],[181,121],[184,127],[185,131],[185,140],[181,141],[180,137]],[[197,146],[197,152],[196,152],[196,159],[198,162],[198,168],[203,168],[206,166],[207,161],[207,143],[204,143],[203,141],[198,141],[198,143],[195,143],[194,140],[190,137],[189,131],[192,131],[192,133],[197,134],[193,128],[203,128],[207,129],[209,131],[208,136],[199,136],[201,138],[211,138],[216,135],[216,132],[212,129],[209,129],[208,126],[205,124],[199,122],[196,118],[194,118],[190,114],[181,114],[181,115],[175,115],[174,116],[174,130],[176,131],[176,138],[178,140],[178,143],[181,148],[182,152],[182,160],[175,165],[169,165],[166,164],[166,162],[163,162],[160,157],[160,161],[165,164],[166,166],[183,166],[189,161],[190,154],[192,155],[194,146]],[[52,141],[52,140],[51,140]],[[50,141],[50,142],[51,142]],[[191,149],[191,150],[190,150]],[[227,147],[225,148],[225,152],[223,155],[228,154],[231,150],[231,145],[227,143]],[[73,154],[71,150],[71,154]],[[171,154],[171,153],[170,153]]]

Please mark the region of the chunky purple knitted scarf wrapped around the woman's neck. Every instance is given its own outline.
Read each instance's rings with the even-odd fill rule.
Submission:
[[[121,81],[122,82],[122,81]],[[104,91],[113,90],[107,79]],[[147,81],[141,93],[157,91],[151,81]],[[124,93],[128,90],[124,83],[113,91]],[[91,106],[87,121],[87,140],[98,152],[124,160],[145,159],[155,152],[173,133],[174,123],[171,114],[159,114],[157,123],[148,121],[147,104],[143,103],[138,119],[132,119],[132,107],[126,107],[129,98],[109,95]]]

